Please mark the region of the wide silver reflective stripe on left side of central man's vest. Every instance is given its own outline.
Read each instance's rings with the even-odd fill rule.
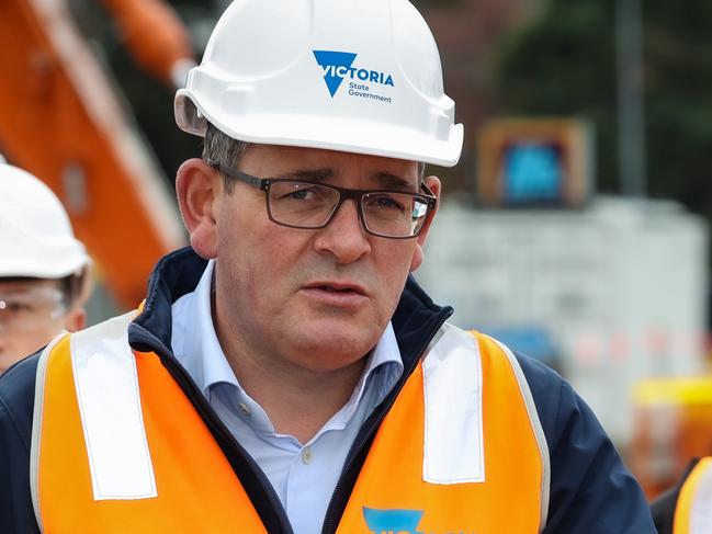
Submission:
[[[157,496],[136,360],[127,339],[134,315],[132,311],[70,337],[75,389],[94,500]],[[45,366],[46,363],[41,365],[38,372]],[[41,417],[35,420],[33,434],[38,433],[35,430]]]

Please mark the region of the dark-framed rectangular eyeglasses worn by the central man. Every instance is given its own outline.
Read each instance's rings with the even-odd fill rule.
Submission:
[[[309,180],[257,178],[212,159],[207,164],[228,177],[264,191],[270,220],[290,228],[326,227],[344,201],[355,202],[366,232],[389,239],[417,237],[438,198],[425,183],[425,193],[369,191],[325,185]]]

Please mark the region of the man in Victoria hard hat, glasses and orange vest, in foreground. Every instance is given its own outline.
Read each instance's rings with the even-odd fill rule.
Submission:
[[[572,388],[409,275],[463,140],[410,3],[237,0],[176,116],[192,248],[0,379],[0,530],[653,532]]]

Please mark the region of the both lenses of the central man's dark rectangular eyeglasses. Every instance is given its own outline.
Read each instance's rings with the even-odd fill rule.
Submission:
[[[340,193],[327,185],[284,181],[270,184],[268,207],[274,221],[297,228],[324,227]],[[361,214],[366,230],[385,237],[411,237],[420,231],[428,205],[411,193],[364,193]]]

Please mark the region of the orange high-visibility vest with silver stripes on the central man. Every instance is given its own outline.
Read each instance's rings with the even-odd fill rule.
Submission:
[[[131,318],[60,337],[39,360],[31,487],[41,529],[264,533],[159,357],[129,349]],[[536,534],[549,479],[515,356],[445,325],[378,428],[336,532]]]

